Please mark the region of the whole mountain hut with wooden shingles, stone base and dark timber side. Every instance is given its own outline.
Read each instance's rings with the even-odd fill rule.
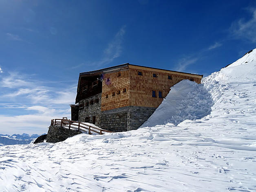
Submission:
[[[80,73],[71,119],[111,131],[135,130],[183,79],[201,83],[203,75],[122,64]]]

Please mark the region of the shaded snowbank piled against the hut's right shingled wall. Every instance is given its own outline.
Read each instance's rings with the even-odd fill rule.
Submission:
[[[183,80],[175,84],[166,99],[141,127],[178,125],[185,119],[201,119],[210,114],[213,101],[202,84]]]

